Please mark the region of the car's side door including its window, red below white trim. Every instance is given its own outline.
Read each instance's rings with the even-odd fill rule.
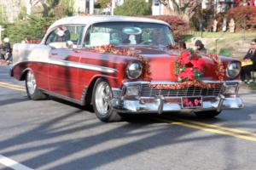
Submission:
[[[58,31],[64,32],[58,32]],[[54,94],[79,100],[79,47],[84,26],[61,26],[49,34],[49,88]]]

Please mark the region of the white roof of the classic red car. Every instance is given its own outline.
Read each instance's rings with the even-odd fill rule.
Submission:
[[[99,22],[114,22],[114,21],[127,21],[127,22],[148,22],[148,23],[156,23],[163,24],[169,26],[166,22],[162,20],[154,20],[148,18],[139,18],[139,17],[131,17],[131,16],[109,16],[109,15],[90,15],[90,16],[72,16],[63,18],[61,20],[56,20],[51,26],[49,26],[49,30],[55,26],[61,25],[91,25]]]

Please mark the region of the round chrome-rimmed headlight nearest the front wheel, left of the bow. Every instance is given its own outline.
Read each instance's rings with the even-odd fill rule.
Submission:
[[[137,79],[143,73],[143,65],[139,62],[130,63],[127,66],[126,74],[128,78]]]

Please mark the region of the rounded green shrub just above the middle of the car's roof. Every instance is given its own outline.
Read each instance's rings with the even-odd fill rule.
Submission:
[[[144,0],[129,0],[115,8],[114,14],[126,16],[148,15],[152,14],[152,9],[151,5],[145,3]]]

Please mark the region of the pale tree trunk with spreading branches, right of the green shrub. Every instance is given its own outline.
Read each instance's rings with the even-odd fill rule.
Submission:
[[[202,0],[160,0],[160,3],[168,8],[170,14],[176,14],[189,20],[195,11],[201,8]]]

